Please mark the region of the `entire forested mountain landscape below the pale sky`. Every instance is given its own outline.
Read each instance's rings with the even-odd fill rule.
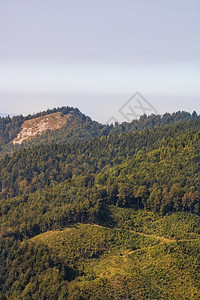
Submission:
[[[1,122],[0,299],[200,298],[197,114]]]

